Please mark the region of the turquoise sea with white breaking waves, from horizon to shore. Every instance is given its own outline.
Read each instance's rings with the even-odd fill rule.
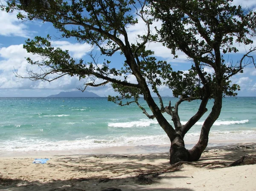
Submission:
[[[164,98],[175,103],[175,98]],[[141,100],[144,107],[146,104]],[[213,100],[209,102],[210,111]],[[256,140],[256,97],[224,98],[211,141]],[[199,101],[182,103],[186,123]],[[148,111],[149,112],[149,111]],[[171,117],[166,115],[171,122]],[[186,134],[196,142],[204,117]],[[120,107],[98,98],[0,98],[0,151],[50,151],[169,144],[156,120],[132,104]]]

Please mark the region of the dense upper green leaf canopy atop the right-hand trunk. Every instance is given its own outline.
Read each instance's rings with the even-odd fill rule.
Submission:
[[[215,48],[236,52],[233,42],[253,43],[248,34],[256,32],[256,15],[233,6],[232,0],[160,0],[153,7],[154,16],[163,21],[162,41],[173,54],[181,50],[209,64],[215,61]]]

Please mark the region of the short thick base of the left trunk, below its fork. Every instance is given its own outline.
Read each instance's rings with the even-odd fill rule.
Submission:
[[[180,161],[190,161],[189,151],[185,148],[183,138],[177,135],[174,140],[171,140],[170,148],[170,164],[175,164]]]

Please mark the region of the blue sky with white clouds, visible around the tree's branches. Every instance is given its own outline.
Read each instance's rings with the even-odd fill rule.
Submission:
[[[255,0],[234,0],[233,4],[241,4],[244,8],[256,10]],[[154,23],[154,25],[160,26],[160,23]],[[127,30],[129,40],[132,42],[136,40],[137,34],[145,32],[145,26],[139,20],[138,24],[129,26]],[[19,75],[25,77],[27,76],[27,69],[32,68],[34,71],[40,71],[38,67],[31,66],[26,61],[26,57],[30,57],[33,60],[40,60],[40,57],[27,53],[23,49],[23,44],[28,38],[33,39],[35,36],[46,37],[47,34],[52,36],[52,45],[54,47],[68,50],[71,56],[76,59],[83,58],[85,61],[91,61],[88,56],[91,51],[90,45],[78,43],[72,39],[59,38],[61,34],[54,29],[51,23],[42,23],[39,20],[21,22],[17,20],[15,13],[0,11],[0,97],[47,97],[51,94],[58,94],[61,91],[74,91],[83,86],[85,80],[79,81],[77,77],[64,76],[51,83],[15,77],[14,70],[17,70]],[[256,40],[254,45],[256,45]],[[238,44],[235,44],[235,46],[239,48],[239,53],[232,53],[227,56],[229,60],[236,62],[246,52],[247,47],[239,46]],[[174,70],[187,71],[191,66],[191,62],[181,52],[178,52],[177,59],[173,59],[171,51],[160,43],[150,43],[147,47],[154,51],[158,59],[171,63]],[[94,54],[97,54],[99,60],[104,60],[105,58],[100,55],[99,51],[96,52],[94,50]],[[256,53],[253,56],[256,57]],[[111,65],[114,67],[121,67],[123,63],[124,58],[120,55],[114,55],[111,58]],[[132,83],[136,83],[133,77],[130,77],[129,80]],[[242,74],[236,74],[231,80],[241,86],[238,96],[256,96],[256,68],[253,65],[244,68]],[[96,88],[88,87],[87,91],[92,91],[101,97],[108,96],[108,94],[116,94],[110,85]],[[165,86],[161,86],[159,91],[163,96],[172,96],[172,91]]]

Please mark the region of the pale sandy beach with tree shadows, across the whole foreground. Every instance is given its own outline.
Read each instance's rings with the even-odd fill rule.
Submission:
[[[124,150],[126,149],[126,150]],[[194,164],[170,168],[169,153],[130,154],[132,148],[112,148],[113,154],[46,152],[0,157],[0,191],[254,191],[256,165],[224,167],[256,143],[208,147]],[[102,152],[105,153],[105,152]],[[33,164],[35,158],[49,158]],[[215,162],[215,164],[209,164]],[[159,173],[155,173],[155,172]],[[144,174],[144,175],[140,175]]]

